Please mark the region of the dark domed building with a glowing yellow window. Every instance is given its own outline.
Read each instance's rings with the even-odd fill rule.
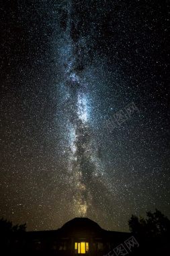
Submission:
[[[130,233],[108,231],[89,218],[74,218],[58,230],[24,232],[8,241],[11,255],[103,256]]]

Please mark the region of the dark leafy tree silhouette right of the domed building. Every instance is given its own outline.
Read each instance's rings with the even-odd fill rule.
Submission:
[[[146,212],[146,218],[132,215],[128,226],[140,245],[138,256],[170,256],[170,220],[159,210]]]

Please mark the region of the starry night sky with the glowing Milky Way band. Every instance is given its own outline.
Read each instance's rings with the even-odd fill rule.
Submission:
[[[0,218],[170,218],[169,1],[1,1]]]

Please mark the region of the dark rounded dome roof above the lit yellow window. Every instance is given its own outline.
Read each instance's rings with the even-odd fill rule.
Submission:
[[[60,231],[72,235],[85,235],[85,234],[99,234],[104,230],[89,218],[74,218],[66,222],[61,228]]]

